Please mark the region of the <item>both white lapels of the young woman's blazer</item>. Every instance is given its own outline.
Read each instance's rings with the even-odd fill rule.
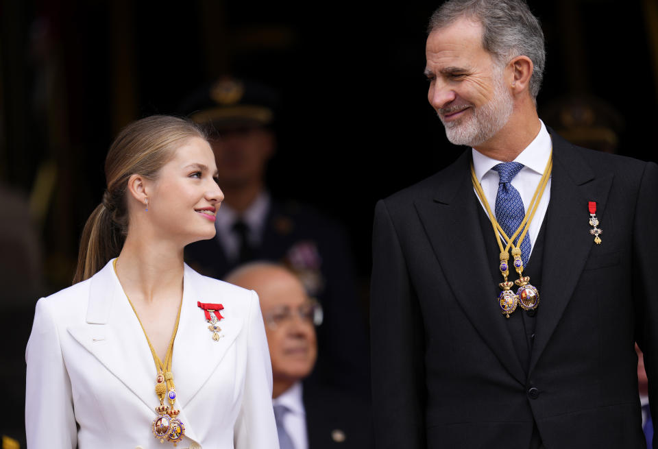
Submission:
[[[243,326],[241,315],[236,313],[228,298],[212,295],[217,289],[204,288],[206,282],[206,278],[185,265],[183,302],[171,367],[178,396],[176,406],[181,411],[185,435],[195,441],[194,421],[186,415],[185,406],[214,372]],[[221,311],[225,319],[219,322],[219,341],[212,339],[197,301],[220,302],[225,307]],[[156,366],[139,321],[114,274],[111,260],[91,280],[86,323],[71,326],[68,331],[156,416]]]

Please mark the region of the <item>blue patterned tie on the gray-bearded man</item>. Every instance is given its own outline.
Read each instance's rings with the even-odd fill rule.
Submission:
[[[500,227],[508,237],[511,237],[516,232],[523,221],[523,217],[526,215],[521,195],[512,185],[513,178],[522,168],[523,164],[519,162],[502,162],[502,164],[493,167],[494,170],[498,171],[498,176],[500,177],[498,181],[498,193],[496,194],[496,210],[494,212],[496,213],[498,224],[500,224]],[[521,234],[517,236],[514,243],[518,241],[520,236]],[[528,266],[531,247],[530,235],[526,234],[521,242],[521,260],[523,260],[524,267]]]

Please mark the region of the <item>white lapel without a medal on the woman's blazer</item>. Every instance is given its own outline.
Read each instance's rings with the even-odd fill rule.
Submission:
[[[156,366],[112,260],[91,279],[86,323],[67,330],[155,413]]]

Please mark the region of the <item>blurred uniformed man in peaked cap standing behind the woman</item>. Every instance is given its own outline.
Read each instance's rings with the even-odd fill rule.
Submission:
[[[250,260],[289,267],[324,309],[321,356],[314,377],[367,391],[365,320],[356,300],[354,267],[343,229],[313,208],[274,199],[265,186],[276,151],[278,93],[250,80],[222,77],[184,101],[181,110],[211,133],[219,186],[215,239],[186,247],[186,261],[222,278]]]

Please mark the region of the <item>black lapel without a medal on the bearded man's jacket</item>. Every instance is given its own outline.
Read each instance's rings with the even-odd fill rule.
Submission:
[[[526,376],[496,301],[502,278],[491,277],[490,265],[498,260],[487,259],[470,160],[467,150],[437,177],[433,201],[414,204],[453,295],[502,365],[524,385]]]

